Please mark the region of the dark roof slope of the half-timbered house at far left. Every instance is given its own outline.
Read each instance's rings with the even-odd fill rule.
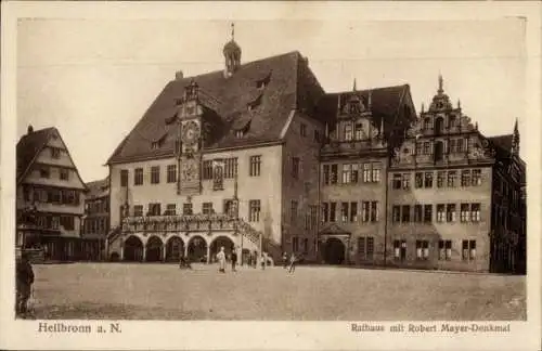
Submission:
[[[46,146],[52,133],[59,133],[56,128],[44,128],[27,133],[17,143],[17,182],[26,173],[36,155]]]

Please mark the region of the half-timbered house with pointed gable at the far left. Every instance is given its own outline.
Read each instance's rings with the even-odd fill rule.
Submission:
[[[16,158],[17,249],[46,260],[77,259],[86,187],[59,130],[29,126]]]

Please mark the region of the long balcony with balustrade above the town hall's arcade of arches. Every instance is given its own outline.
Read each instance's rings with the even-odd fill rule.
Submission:
[[[128,217],[122,232],[234,231],[236,220],[228,214],[179,214]]]

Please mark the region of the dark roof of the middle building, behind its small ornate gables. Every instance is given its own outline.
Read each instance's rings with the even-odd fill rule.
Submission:
[[[398,120],[399,117],[402,117],[402,114],[400,114],[400,107],[403,104],[404,99],[406,99],[406,95],[410,94],[409,84],[403,84],[326,94],[319,104],[319,114],[327,116],[327,121],[332,122],[330,125],[330,131],[335,129],[334,121],[335,116],[337,116],[337,109],[343,108],[352,94],[360,96],[363,104],[366,106],[370,92],[373,125],[375,128],[379,128],[380,121],[384,120],[384,135],[386,139],[391,135],[391,131],[397,129],[398,126],[408,127],[410,123],[409,120],[404,120],[403,123],[400,123],[400,120]],[[412,110],[411,114],[414,116],[414,110]]]

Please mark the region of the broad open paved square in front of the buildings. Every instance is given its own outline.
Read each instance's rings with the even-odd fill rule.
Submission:
[[[35,318],[399,321],[526,318],[525,276],[336,266],[35,265]]]

